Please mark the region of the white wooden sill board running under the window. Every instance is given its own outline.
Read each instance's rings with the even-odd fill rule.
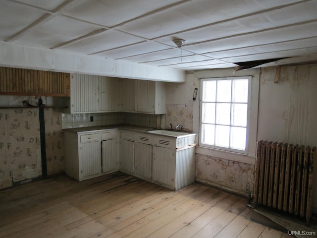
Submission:
[[[213,148],[196,146],[196,153],[202,155],[208,155],[220,159],[232,160],[237,162],[242,162],[249,165],[256,164],[256,157],[251,155],[240,154],[236,152],[217,150]]]

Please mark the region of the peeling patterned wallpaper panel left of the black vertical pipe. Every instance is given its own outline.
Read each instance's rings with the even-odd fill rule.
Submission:
[[[42,174],[38,109],[0,110],[0,188]]]

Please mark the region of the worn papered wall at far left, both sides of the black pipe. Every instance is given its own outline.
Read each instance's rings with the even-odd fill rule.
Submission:
[[[22,96],[1,96],[0,106],[20,106],[23,100]],[[61,113],[46,108],[44,114],[47,170],[53,175],[64,171]],[[0,189],[41,177],[39,109],[0,109],[0,135]]]

